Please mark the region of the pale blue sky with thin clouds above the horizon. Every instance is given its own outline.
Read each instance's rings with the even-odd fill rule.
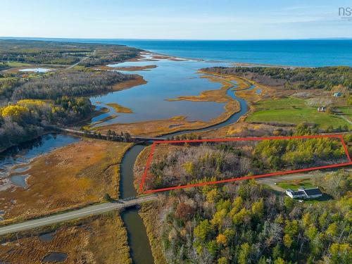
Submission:
[[[351,0],[1,0],[0,37],[352,37]]]

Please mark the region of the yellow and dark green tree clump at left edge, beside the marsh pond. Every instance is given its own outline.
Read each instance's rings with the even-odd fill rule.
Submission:
[[[39,137],[48,123],[66,125],[92,112],[88,99],[20,100],[0,108],[0,150]]]

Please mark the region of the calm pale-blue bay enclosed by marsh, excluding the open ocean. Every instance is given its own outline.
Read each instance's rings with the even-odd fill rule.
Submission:
[[[200,78],[197,70],[213,65],[228,65],[228,63],[206,63],[203,61],[136,61],[111,65],[113,67],[157,65],[149,70],[136,72],[144,77],[146,84],[90,98],[96,106],[109,108],[110,113],[93,118],[96,122],[107,115],[118,115],[117,118],[107,120],[99,125],[112,123],[141,122],[146,120],[160,120],[177,115],[187,117],[189,121],[209,121],[224,111],[225,103],[208,101],[166,101],[178,96],[199,95],[204,90],[219,89],[220,83],[209,82]],[[96,103],[99,102],[99,103]],[[133,113],[115,113],[106,103],[118,103],[132,108]]]

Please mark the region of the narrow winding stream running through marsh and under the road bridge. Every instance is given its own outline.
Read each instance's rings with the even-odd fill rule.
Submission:
[[[235,87],[230,87],[227,90],[227,95],[231,96],[233,99],[239,101],[240,111],[234,113],[224,122],[220,122],[216,125],[211,125],[208,127],[203,127],[198,130],[184,130],[180,132],[174,132],[170,134],[165,134],[168,137],[174,137],[180,134],[191,133],[191,132],[201,132],[207,130],[215,130],[220,127],[225,127],[226,125],[230,125],[234,122],[237,122],[239,118],[246,114],[248,111],[247,103],[244,99],[241,99],[236,96],[236,92],[232,91]],[[251,86],[246,90],[254,89],[255,86]],[[133,167],[134,163],[137,159],[139,153],[143,151],[143,149],[147,145],[136,144],[132,146],[122,158],[122,163],[120,167],[120,196],[122,199],[126,199],[132,196],[137,195],[136,189],[134,189],[134,175],[133,175]],[[125,222],[125,227],[127,229],[128,236],[128,244],[130,246],[130,254],[135,264],[150,264],[153,263],[153,256],[151,253],[151,246],[149,244],[149,239],[146,234],[146,228],[144,227],[144,223],[142,218],[138,214],[138,208],[130,208],[125,210],[121,214],[123,222]]]

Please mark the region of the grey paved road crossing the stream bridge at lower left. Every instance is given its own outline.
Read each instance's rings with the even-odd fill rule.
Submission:
[[[67,213],[60,213],[58,215],[46,216],[46,217],[38,218],[34,220],[27,220],[25,222],[20,222],[18,224],[6,225],[4,227],[0,227],[0,235],[20,232],[23,230],[30,230],[36,227],[43,227],[45,225],[52,225],[58,222],[73,220],[76,218],[83,218],[89,215],[105,213],[111,210],[122,209],[130,206],[134,206],[139,203],[144,203],[146,201],[152,201],[157,198],[158,196],[156,195],[142,196],[142,197],[130,199],[130,200],[120,200],[115,203],[101,203],[94,206],[87,206],[82,209],[73,210]]]

